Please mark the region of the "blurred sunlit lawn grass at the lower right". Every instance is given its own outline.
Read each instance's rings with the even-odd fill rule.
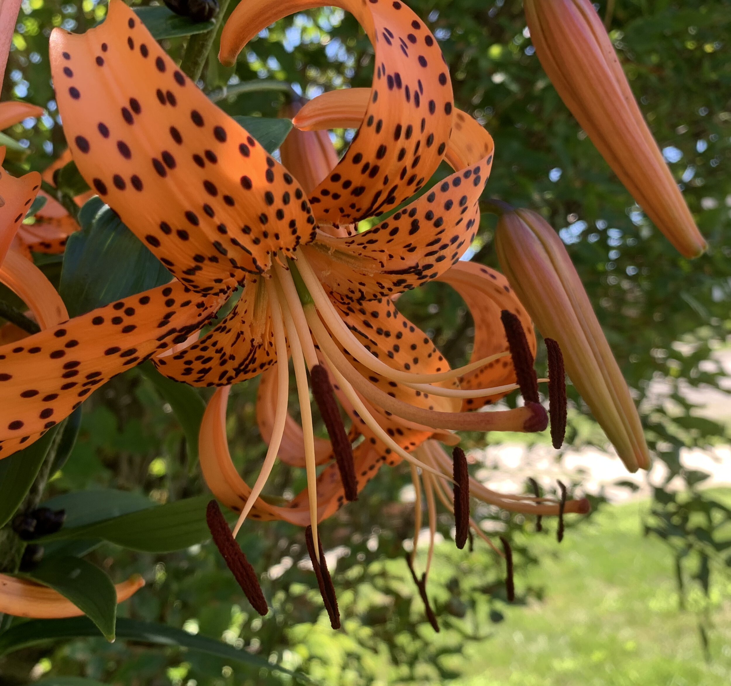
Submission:
[[[725,495],[725,494],[724,494]],[[607,506],[561,546],[533,538],[541,564],[518,587],[542,602],[504,609],[493,636],[468,644],[455,686],[720,686],[731,683],[731,581],[714,575],[711,660],[697,630],[700,592],[678,610],[670,549],[645,538],[635,502]],[[692,571],[691,571],[692,572]]]

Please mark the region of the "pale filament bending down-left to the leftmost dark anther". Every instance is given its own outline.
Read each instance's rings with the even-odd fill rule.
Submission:
[[[267,449],[264,463],[257,476],[257,481],[254,486],[251,487],[251,495],[246,500],[246,505],[243,506],[241,514],[238,516],[238,521],[233,530],[234,537],[238,534],[238,530],[243,525],[246,516],[254,507],[257,498],[262,492],[264,485],[269,478],[271,470],[274,466],[274,460],[279,452],[279,445],[281,444],[281,437],[284,435],[284,424],[287,422],[287,397],[289,395],[289,369],[287,365],[287,338],[284,335],[284,322],[281,317],[281,308],[279,307],[279,298],[277,297],[276,290],[274,289],[273,283],[270,280],[265,281],[267,289],[267,295],[269,297],[269,308],[271,312],[272,327],[274,329],[274,347],[276,350],[276,359],[279,360],[277,363],[277,397],[276,397],[276,408],[274,410],[274,427],[272,430],[272,437],[269,441],[269,448]],[[314,535],[314,532],[313,532]]]

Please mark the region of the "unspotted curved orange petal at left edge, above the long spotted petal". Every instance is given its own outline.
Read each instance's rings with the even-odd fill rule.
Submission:
[[[10,251],[0,266],[0,281],[31,308],[41,329],[69,319],[66,305],[53,284],[33,262],[15,251]]]

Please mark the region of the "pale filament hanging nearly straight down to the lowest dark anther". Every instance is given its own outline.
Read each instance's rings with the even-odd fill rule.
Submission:
[[[276,286],[275,286],[276,287]],[[299,301],[298,301],[299,302]],[[287,307],[287,298],[280,300],[284,315],[284,327],[287,330],[289,349],[292,351],[292,364],[295,367],[295,381],[297,394],[300,400],[300,416],[302,418],[302,432],[305,443],[305,469],[307,473],[307,498],[310,509],[310,526],[312,527],[312,541],[315,556],[319,562],[319,546],[317,545],[317,469],[315,466],[315,438],[312,427],[312,408],[310,405],[310,391],[307,384],[307,370],[302,352],[302,344],[295,327],[295,321]]]

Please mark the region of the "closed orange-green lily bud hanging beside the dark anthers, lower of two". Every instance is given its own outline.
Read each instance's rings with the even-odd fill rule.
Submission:
[[[650,459],[637,408],[564,243],[531,210],[504,213],[496,229],[504,274],[544,338],[561,346],[569,378],[626,468]]]

